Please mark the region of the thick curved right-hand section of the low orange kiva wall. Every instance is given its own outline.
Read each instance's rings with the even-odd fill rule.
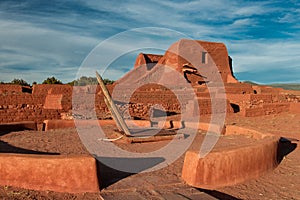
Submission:
[[[279,138],[234,126],[227,127],[225,134],[239,132],[258,140],[245,147],[210,152],[204,158],[198,151],[188,151],[182,169],[184,181],[194,187],[216,189],[258,178],[278,165]]]

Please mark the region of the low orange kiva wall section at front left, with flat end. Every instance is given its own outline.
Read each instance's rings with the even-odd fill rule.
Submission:
[[[99,192],[91,156],[0,154],[0,185],[33,190]]]

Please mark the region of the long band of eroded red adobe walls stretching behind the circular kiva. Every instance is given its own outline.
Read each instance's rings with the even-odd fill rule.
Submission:
[[[107,86],[113,93],[114,85]],[[259,89],[259,88],[256,88]],[[32,93],[24,92],[21,86],[0,85],[0,123],[34,121],[42,123],[46,119],[82,119],[111,118],[101,88],[99,86],[69,85],[35,85]],[[263,116],[294,110],[298,112],[299,98],[286,93],[255,94],[254,89],[247,84],[225,84],[225,88],[208,89],[205,86],[195,87],[198,105],[186,99],[184,89],[176,95],[169,89],[159,85],[146,85],[136,90],[130,97],[129,104],[115,103],[125,118],[149,119],[150,110],[155,105],[161,105],[168,113],[182,113],[184,110],[196,110],[200,115],[212,113],[212,101],[222,101],[218,96],[226,92],[226,110],[220,108],[217,112],[240,112],[243,116]],[[257,93],[257,92],[256,92]],[[75,95],[75,98],[73,98]],[[180,99],[180,100],[179,100]],[[217,103],[218,104],[218,103]],[[238,108],[236,108],[236,107]],[[73,110],[72,110],[73,108]],[[129,112],[125,112],[128,110]],[[80,113],[77,114],[77,111]]]

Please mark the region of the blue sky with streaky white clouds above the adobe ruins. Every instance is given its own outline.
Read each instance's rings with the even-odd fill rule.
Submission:
[[[22,78],[32,83],[50,76],[72,81],[99,43],[142,27],[225,43],[239,80],[300,83],[299,0],[1,0],[0,81]],[[163,37],[149,31],[144,39],[159,43],[161,49],[178,39],[178,35]],[[136,42],[124,45],[130,49]],[[157,49],[140,51],[157,53]],[[107,73],[107,78],[130,70],[138,53],[113,61],[114,73]]]

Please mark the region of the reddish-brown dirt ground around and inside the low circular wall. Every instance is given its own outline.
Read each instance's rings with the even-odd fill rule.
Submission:
[[[205,121],[205,117],[202,118]],[[282,113],[264,117],[241,117],[231,114],[226,124],[248,127],[272,133],[292,140],[299,145],[300,114]],[[114,127],[107,127],[112,130]],[[197,135],[194,145],[201,143],[203,135]],[[216,149],[227,146],[243,146],[253,142],[244,136],[221,137]],[[168,141],[143,144],[118,143],[130,151],[149,151]],[[259,179],[217,190],[202,190],[186,185],[181,179],[184,156],[169,166],[151,172],[130,174],[118,172],[99,164],[101,196],[104,199],[300,199],[299,146],[282,160],[272,172]],[[32,154],[88,154],[77,136],[76,129],[48,132],[23,131],[2,133],[0,152]],[[102,199],[98,193],[68,194],[51,191],[32,191],[10,186],[0,186],[0,199]]]

